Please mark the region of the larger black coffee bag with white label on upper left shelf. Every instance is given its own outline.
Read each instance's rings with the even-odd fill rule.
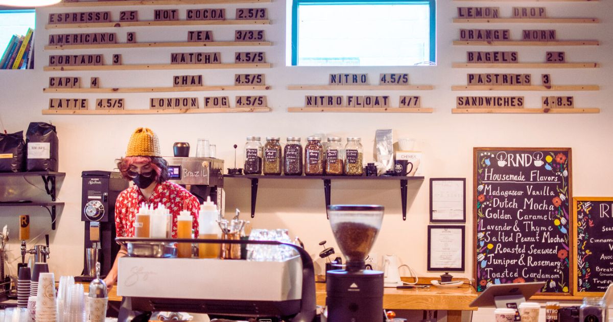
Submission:
[[[58,171],[58,134],[55,126],[31,122],[26,132],[27,171]]]

